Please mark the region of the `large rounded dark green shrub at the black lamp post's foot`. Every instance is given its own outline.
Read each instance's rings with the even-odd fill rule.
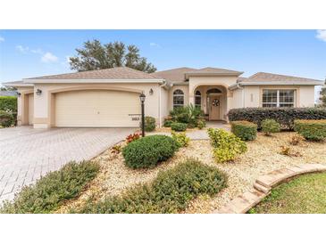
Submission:
[[[178,149],[179,144],[170,136],[155,134],[130,142],[122,149],[122,156],[128,167],[155,167],[170,159]]]

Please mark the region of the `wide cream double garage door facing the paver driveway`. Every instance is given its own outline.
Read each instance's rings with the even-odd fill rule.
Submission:
[[[55,94],[55,126],[138,127],[139,95],[121,91]],[[132,116],[133,115],[133,116]]]

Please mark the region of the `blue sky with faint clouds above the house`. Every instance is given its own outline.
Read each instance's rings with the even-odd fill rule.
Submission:
[[[158,70],[218,67],[326,77],[326,32],[316,30],[0,30],[0,83],[71,72],[83,42],[137,45]]]

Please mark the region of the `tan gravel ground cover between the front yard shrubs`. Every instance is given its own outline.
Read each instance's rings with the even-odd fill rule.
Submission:
[[[189,158],[199,159],[201,164],[215,167],[228,177],[228,187],[217,194],[199,194],[188,202],[188,207],[180,209],[180,213],[210,213],[223,207],[238,194],[251,190],[255,179],[263,174],[281,167],[295,166],[304,163],[325,164],[325,142],[308,142],[299,140],[297,145],[290,142],[296,133],[281,132],[265,136],[258,133],[255,141],[247,143],[247,152],[238,156],[233,162],[217,163],[213,158],[213,146],[208,140],[190,141],[188,147],[180,148],[175,155],[155,168],[132,169],[127,167],[121,153],[112,149],[104,151],[96,159],[101,171],[90,184],[87,191],[73,199],[57,212],[67,213],[83,211],[89,202],[96,203],[108,196],[121,196],[130,191],[130,187],[138,184],[153,183],[161,171],[177,167]],[[125,142],[121,142],[123,146]],[[300,156],[281,154],[280,147],[286,145]]]

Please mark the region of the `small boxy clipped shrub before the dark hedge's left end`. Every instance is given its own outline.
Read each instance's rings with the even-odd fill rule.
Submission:
[[[257,125],[248,121],[233,121],[231,132],[243,141],[253,141],[257,137]]]

